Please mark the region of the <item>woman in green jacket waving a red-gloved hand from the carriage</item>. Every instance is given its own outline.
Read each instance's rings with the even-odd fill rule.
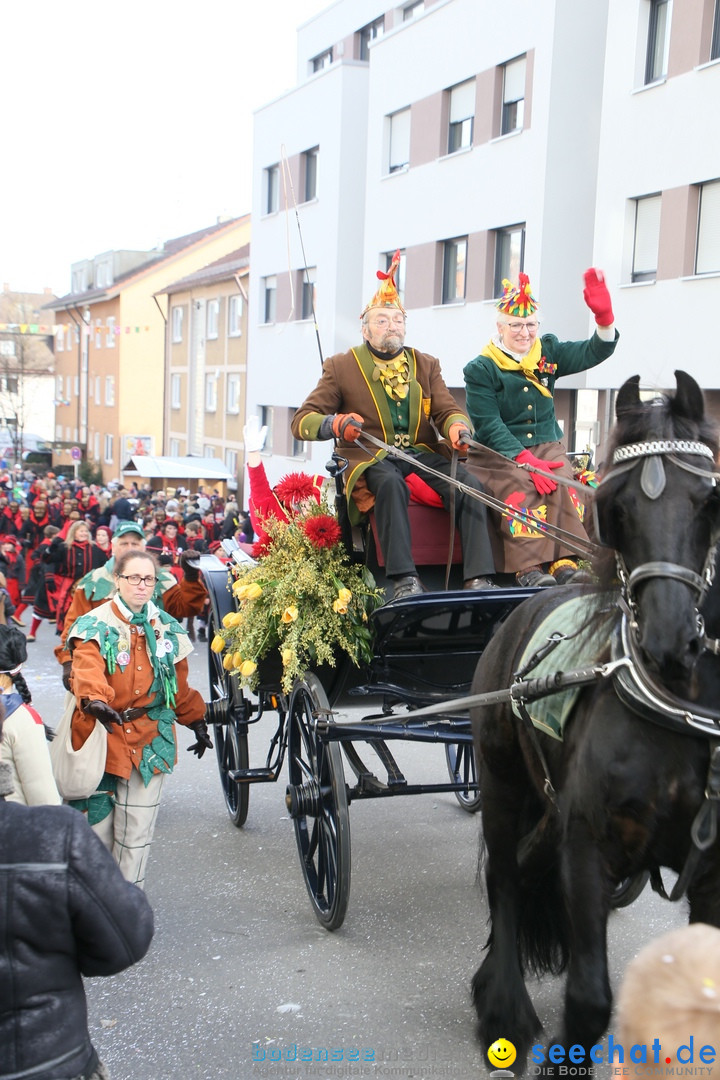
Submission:
[[[503,285],[495,333],[464,368],[473,440],[483,444],[470,447],[467,468],[520,515],[492,515],[502,544],[502,555],[495,552],[500,571],[515,573],[527,588],[587,581],[572,548],[541,531],[549,523],[586,540],[582,498],[518,465],[572,478],[553,393],[561,376],[595,367],[614,352],[619,335],[610,294],[602,273],[587,270],[583,296],[595,315],[595,333],[587,341],[559,341],[554,334],[540,334],[540,309],[527,275],[519,275],[517,287],[508,281]]]

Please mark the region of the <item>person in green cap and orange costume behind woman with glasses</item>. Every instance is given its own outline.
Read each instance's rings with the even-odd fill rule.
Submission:
[[[105,604],[106,600],[114,596],[116,559],[133,549],[145,551],[142,526],[137,522],[121,522],[113,534],[111,546],[112,556],[105,566],[100,566],[97,570],[91,570],[78,582],[72,603],[65,618],[60,644],[55,649],[55,656],[63,665],[63,685],[66,690],[70,689],[71,667],[70,653],[66,648],[68,630],[81,615],[86,615],[93,608]],[[196,552],[182,553],[180,563],[184,577],[180,582],[165,568],[161,568],[158,575],[152,602],[157,607],[172,615],[178,622],[189,616],[200,615],[207,598],[207,591],[201,581],[196,559]]]

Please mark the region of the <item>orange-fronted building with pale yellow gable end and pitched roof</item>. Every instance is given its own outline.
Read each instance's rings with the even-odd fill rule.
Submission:
[[[138,448],[165,441],[165,332],[161,291],[247,242],[248,217],[165,241],[152,252],[108,252],[74,264],[55,312],[58,467],[73,447],[104,482],[120,478]]]

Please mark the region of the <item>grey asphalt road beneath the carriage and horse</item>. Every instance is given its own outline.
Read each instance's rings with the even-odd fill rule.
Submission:
[[[25,670],[51,725],[64,696],[55,644],[43,624]],[[203,693],[205,648],[191,657]],[[264,720],[253,729],[252,766],[264,764],[270,733]],[[214,753],[198,761],[185,750],[190,735],[179,741],[148,870],[154,941],[132,970],[86,981],[91,1034],[112,1080],[486,1075],[468,990],[486,936],[479,818],[445,794],[353,804],[350,906],[328,933],[301,875],[286,768],[277,783],[254,785],[237,829]],[[446,780],[441,746],[403,744],[397,757],[413,782]],[[684,919],[682,903],[649,890],[615,913],[613,983],[644,942]],[[560,984],[530,993],[553,1032]]]

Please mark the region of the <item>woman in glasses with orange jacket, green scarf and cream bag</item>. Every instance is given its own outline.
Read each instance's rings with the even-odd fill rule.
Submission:
[[[175,725],[192,728],[188,748],[202,757],[213,743],[205,703],[188,685],[187,631],[155,607],[158,564],[133,549],[113,568],[117,595],[70,629],[72,745],[96,719],[108,732],[106,771],[97,791],[71,805],[112,852],[128,881],[144,886],[163,781],[177,764]]]

